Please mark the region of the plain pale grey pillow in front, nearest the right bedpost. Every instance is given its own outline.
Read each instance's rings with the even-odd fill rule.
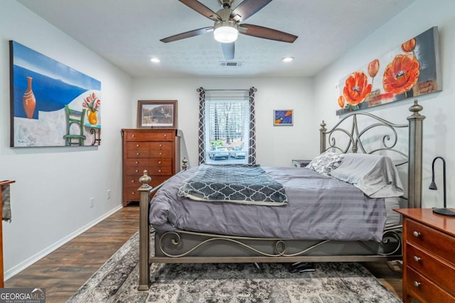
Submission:
[[[344,154],[331,176],[353,184],[370,198],[401,197],[404,193],[397,168],[385,155]]]

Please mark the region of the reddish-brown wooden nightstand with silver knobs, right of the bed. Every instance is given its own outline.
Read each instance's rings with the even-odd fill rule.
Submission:
[[[455,218],[395,211],[403,215],[403,302],[455,302]]]

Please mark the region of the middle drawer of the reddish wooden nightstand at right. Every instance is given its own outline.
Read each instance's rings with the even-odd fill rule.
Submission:
[[[454,281],[453,279],[447,279],[447,277],[455,277],[455,267],[441,262],[441,260],[432,257],[424,250],[409,243],[406,244],[406,260],[408,266],[414,268],[417,272],[424,272],[424,275],[430,277],[432,282],[449,292],[449,294],[455,295]]]

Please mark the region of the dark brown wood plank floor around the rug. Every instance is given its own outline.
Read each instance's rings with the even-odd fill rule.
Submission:
[[[5,282],[45,287],[46,302],[65,302],[139,229],[139,207],[129,204]],[[401,298],[401,276],[384,263],[363,263]]]

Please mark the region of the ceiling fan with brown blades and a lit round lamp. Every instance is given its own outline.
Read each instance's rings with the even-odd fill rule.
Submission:
[[[213,31],[215,40],[221,43],[221,49],[223,50],[225,60],[232,60],[234,59],[235,53],[235,40],[237,40],[237,35],[239,33],[287,43],[293,43],[297,38],[296,35],[277,31],[272,28],[240,23],[257,13],[272,0],[244,0],[235,9],[232,9],[232,4],[234,4],[235,0],[218,0],[218,3],[223,6],[223,9],[220,9],[216,13],[197,0],[178,1],[181,1],[181,3],[185,4],[190,9],[197,11],[210,20],[215,21],[215,24],[206,28],[199,28],[185,33],[171,35],[170,37],[161,39],[161,42],[173,42]]]

